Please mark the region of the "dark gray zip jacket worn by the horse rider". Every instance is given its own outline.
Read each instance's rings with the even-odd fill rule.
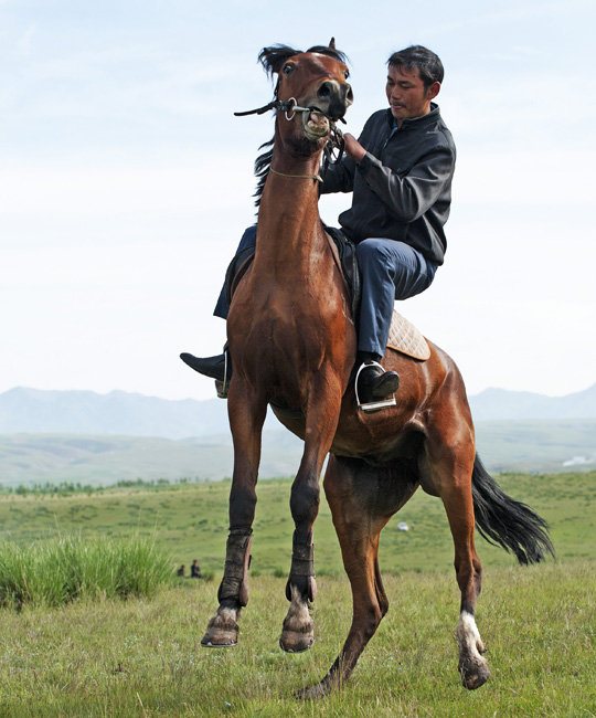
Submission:
[[[372,115],[359,138],[366,155],[356,165],[344,157],[323,176],[321,192],[353,191],[339,222],[354,242],[398,240],[443,264],[456,148],[437,105],[404,119],[397,129],[390,109]]]

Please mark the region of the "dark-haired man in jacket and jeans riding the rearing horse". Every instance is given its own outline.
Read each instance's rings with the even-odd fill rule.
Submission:
[[[456,159],[451,134],[433,103],[444,76],[438,56],[413,45],[393,53],[387,65],[389,109],[374,113],[358,140],[345,134],[347,157],[329,167],[321,187],[323,193],[353,192],[352,207],[339,222],[356,243],[362,273],[361,403],[385,399],[400,386],[398,374],[379,363],[393,303],[427,289],[443,264]],[[238,251],[254,247],[255,239],[255,228],[246,230]],[[227,316],[223,293],[215,315]],[[224,355],[181,358],[207,377],[224,378]]]

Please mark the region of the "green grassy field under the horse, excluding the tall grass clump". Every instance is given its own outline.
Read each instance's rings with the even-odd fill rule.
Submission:
[[[478,539],[485,564],[478,624],[491,680],[459,685],[459,592],[438,499],[422,492],[382,535],[390,613],[353,680],[323,701],[292,690],[320,679],[345,638],[351,596],[324,500],[316,525],[317,643],[286,655],[277,640],[292,522],[288,481],[264,482],[241,645],[199,643],[216,608],[230,483],[0,497],[0,538],[35,552],[56,534],[150,537],[171,563],[198,558],[215,581],[177,580],[152,599],[0,609],[0,717],[14,716],[596,716],[596,474],[499,477],[552,526],[557,559],[521,569]]]

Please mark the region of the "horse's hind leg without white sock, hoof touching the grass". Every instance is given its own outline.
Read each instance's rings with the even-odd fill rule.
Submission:
[[[377,561],[379,536],[417,485],[409,473],[330,456],[324,475],[324,493],[352,588],[352,625],[324,678],[300,690],[298,697],[319,698],[345,682],[387,612],[389,601]]]

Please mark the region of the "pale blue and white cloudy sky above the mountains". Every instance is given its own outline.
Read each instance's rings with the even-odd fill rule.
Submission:
[[[209,399],[225,267],[254,221],[273,116],[258,51],[334,35],[347,130],[386,106],[385,61],[424,44],[458,159],[445,265],[398,310],[488,387],[596,381],[592,1],[0,0],[0,393]],[[349,194],[321,200],[337,225]]]

